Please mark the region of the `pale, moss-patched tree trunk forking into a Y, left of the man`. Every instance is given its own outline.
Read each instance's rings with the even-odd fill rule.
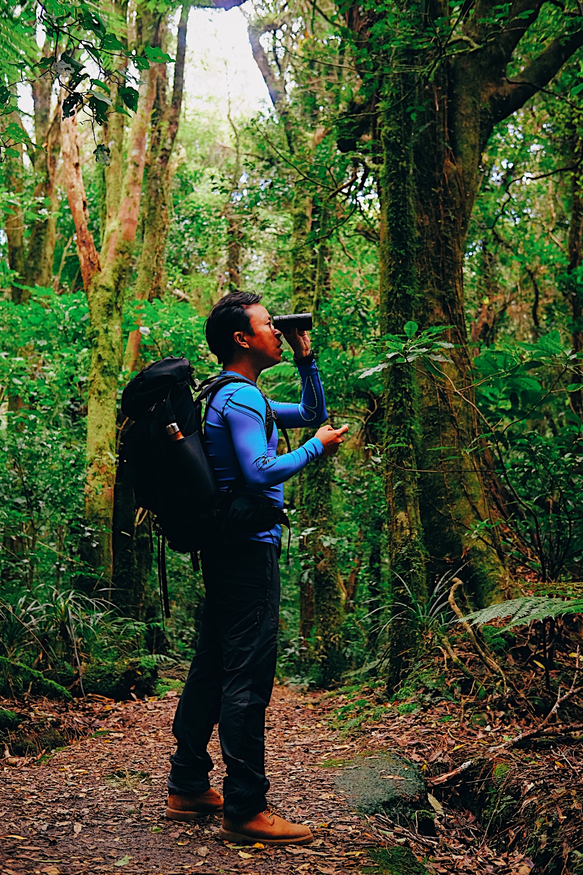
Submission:
[[[89,304],[88,334],[91,364],[87,389],[87,479],[85,485],[86,538],[82,556],[111,589],[112,519],[116,469],[116,415],[118,377],[121,369],[121,310],[137,228],[146,134],[155,96],[156,71],[150,67],[140,86],[138,108],[128,136],[127,159],[121,193],[110,191],[107,225],[101,252],[88,228],[85,187],[80,169],[77,124],[73,118],[61,124],[63,175],[77,235],[81,276]],[[114,186],[121,178],[121,144],[112,151],[108,172]]]

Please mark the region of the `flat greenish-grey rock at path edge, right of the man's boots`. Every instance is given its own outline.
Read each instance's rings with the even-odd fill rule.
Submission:
[[[358,756],[344,764],[336,784],[362,814],[417,823],[420,832],[434,835],[434,812],[420,768],[398,754]]]

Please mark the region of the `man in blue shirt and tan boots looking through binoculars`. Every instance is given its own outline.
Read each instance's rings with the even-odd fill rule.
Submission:
[[[266,401],[256,381],[281,361],[281,332],[260,295],[232,292],[212,308],[206,339],[223,374],[237,382],[220,388],[206,410],[205,439],[221,490],[244,478],[250,492],[283,507],[283,483],[344,442],[348,426],[325,425],[293,452],[276,455],[277,428],[266,430]],[[302,380],[302,401],[269,401],[276,422],[314,425],[327,418],[322,383],[307,332],[286,334]],[[241,378],[244,378],[241,381]],[[267,811],[265,710],[274,683],[279,625],[281,526],[240,535],[229,531],[201,550],[205,609],[197,653],[177,707],[172,732],[177,752],[168,781],[166,816],[190,821],[223,811],[219,836],[237,844],[308,844],[308,827]],[[206,746],[219,722],[226,763],[225,798],[212,789]]]

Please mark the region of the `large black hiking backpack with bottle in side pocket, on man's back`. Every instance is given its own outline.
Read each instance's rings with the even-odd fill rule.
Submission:
[[[198,550],[217,535],[246,535],[272,528],[276,522],[289,529],[287,515],[264,496],[249,493],[242,479],[228,493],[219,492],[206,453],[203,403],[227,383],[249,381],[227,375],[198,382],[192,374],[184,354],[170,355],[144,367],[121,395],[121,412],[134,422],[122,437],[120,476],[130,478],[136,503],[154,517],[166,617],[170,617],[166,542],[170,549],[190,553],[198,570]],[[192,390],[198,392],[196,398]],[[275,416],[265,400],[268,440]],[[281,430],[289,449],[288,435]]]

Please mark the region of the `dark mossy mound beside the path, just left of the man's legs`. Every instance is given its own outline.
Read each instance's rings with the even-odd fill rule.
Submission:
[[[83,670],[83,689],[109,699],[154,696],[158,669],[151,656],[120,659],[115,662],[91,662]]]

